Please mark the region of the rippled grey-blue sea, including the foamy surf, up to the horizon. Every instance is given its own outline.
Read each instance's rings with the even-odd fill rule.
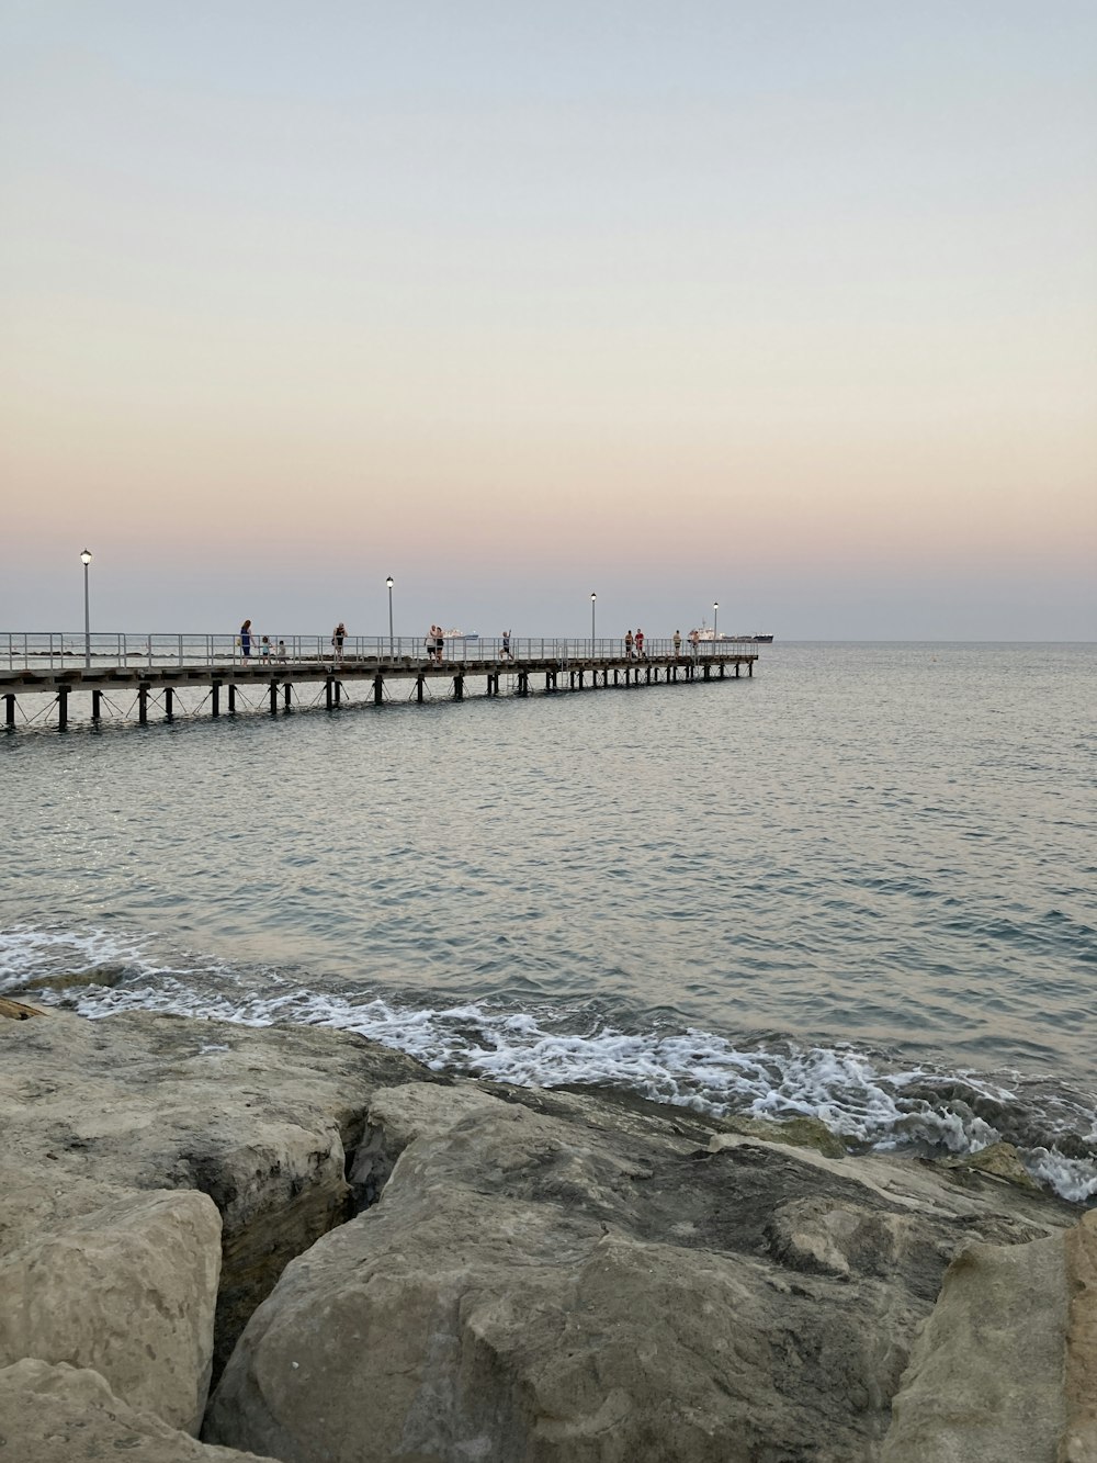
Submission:
[[[1096,711],[1097,645],[778,641],[753,679],[38,723],[0,736],[0,992],[1005,1138],[1097,1203]]]

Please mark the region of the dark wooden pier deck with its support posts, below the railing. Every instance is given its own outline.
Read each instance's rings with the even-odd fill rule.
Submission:
[[[683,647],[679,654],[657,650],[642,658],[626,655],[623,648],[616,651],[613,645],[551,641],[546,652],[537,652],[537,645],[518,647],[513,657],[483,645],[474,655],[451,655],[442,661],[426,652],[388,654],[380,645],[372,647],[372,652],[348,651],[341,658],[300,654],[244,658],[237,651],[225,652],[221,660],[211,655],[190,661],[180,655],[168,661],[149,652],[140,664],[99,652],[92,652],[101,660],[94,664],[92,654],[83,658],[70,651],[57,655],[31,651],[19,666],[0,664],[3,726],[13,732],[20,724],[44,720],[54,708],[57,729],[64,732],[76,720],[92,724],[105,718],[132,720],[146,726],[154,715],[167,721],[177,715],[219,717],[240,711],[278,715],[312,707],[328,711],[351,704],[380,707],[396,699],[423,704],[439,695],[464,701],[470,693],[528,696],[613,686],[689,685],[733,679],[743,672],[753,676],[758,660],[753,647],[746,650],[734,642]],[[34,664],[35,654],[50,663]],[[363,695],[357,695],[358,688]],[[197,705],[187,704],[192,698],[180,699],[187,691],[202,693]],[[28,698],[37,705],[34,715],[26,712]],[[129,707],[120,710],[120,701],[129,701]]]

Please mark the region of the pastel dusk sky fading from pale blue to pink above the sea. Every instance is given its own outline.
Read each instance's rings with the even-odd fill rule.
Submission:
[[[1091,0],[0,0],[0,632],[1097,639]]]

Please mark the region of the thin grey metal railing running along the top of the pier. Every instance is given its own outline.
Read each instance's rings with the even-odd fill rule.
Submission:
[[[692,645],[686,636],[677,655],[701,660],[712,655],[758,652],[749,639],[720,636]],[[635,652],[633,652],[635,654]],[[673,638],[646,639],[644,655],[674,655]],[[620,636],[591,639],[551,635],[515,635],[509,652],[502,638],[448,635],[442,641],[442,660],[456,664],[477,661],[551,660],[560,666],[576,661],[620,660]],[[130,633],[124,631],[0,631],[0,667],[6,670],[60,670],[89,666],[139,669],[140,666],[338,666],[338,664],[431,664],[436,654],[423,635],[348,635],[338,648],[331,635],[252,635],[247,651],[240,635],[203,635],[190,632]]]

